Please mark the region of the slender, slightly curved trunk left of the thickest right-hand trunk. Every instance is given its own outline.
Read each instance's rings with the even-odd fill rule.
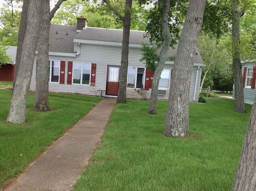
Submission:
[[[172,41],[169,26],[168,26],[169,9],[170,9],[170,0],[164,0],[163,15],[162,15],[162,31],[164,34],[164,42],[161,48],[158,64],[156,66],[154,78],[152,82],[152,89],[150,94],[149,110],[148,110],[149,114],[156,114],[156,103],[157,103],[157,97],[158,97],[159,80],[160,80],[161,73],[164,69],[166,54],[170,48],[170,43]]]

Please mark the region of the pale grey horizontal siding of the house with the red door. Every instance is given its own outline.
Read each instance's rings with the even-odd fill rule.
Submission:
[[[138,48],[130,47],[129,48],[129,66],[132,67],[141,67],[145,68],[145,65],[140,62],[141,51]],[[49,82],[49,91],[50,92],[70,92],[77,94],[89,94],[89,85],[80,85],[80,84],[67,84],[68,76],[68,62],[81,62],[81,63],[95,63],[96,64],[96,76],[95,84],[97,89],[106,90],[106,76],[107,76],[107,65],[118,65],[121,63],[121,54],[122,48],[116,46],[106,46],[106,45],[97,45],[97,44],[80,44],[80,54],[75,57],[64,57],[64,56],[49,56],[49,60],[56,61],[65,61],[65,80],[64,84],[57,82]],[[35,56],[34,67],[33,67],[33,76],[31,79],[30,90],[35,91],[36,89],[36,59]],[[202,64],[201,64],[202,65]],[[201,68],[198,76],[198,82],[196,85],[196,99],[198,101],[199,94],[199,85],[201,78]],[[173,62],[167,62],[164,66],[164,69],[173,69]],[[191,78],[191,87],[190,87],[190,96],[189,101],[193,102],[194,100],[194,88],[196,83],[196,72],[197,66],[193,67],[192,78]],[[127,97],[130,96],[131,89],[127,89]],[[136,92],[135,92],[136,93]],[[151,89],[148,91],[147,97],[150,97]],[[104,95],[104,94],[103,94]],[[167,95],[158,95],[158,99],[167,100],[169,97],[169,88],[167,88]],[[134,94],[133,98],[141,98],[139,94]]]

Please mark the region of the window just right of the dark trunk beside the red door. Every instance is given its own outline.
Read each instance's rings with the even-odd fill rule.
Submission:
[[[127,87],[144,88],[145,68],[128,67]]]

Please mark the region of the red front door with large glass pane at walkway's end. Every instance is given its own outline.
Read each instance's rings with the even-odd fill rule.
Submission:
[[[119,88],[120,66],[107,66],[107,90],[106,95],[117,96]]]

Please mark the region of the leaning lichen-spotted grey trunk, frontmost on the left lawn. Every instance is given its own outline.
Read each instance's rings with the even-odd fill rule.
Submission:
[[[27,110],[27,96],[33,70],[36,44],[39,34],[41,1],[30,0],[27,17],[27,29],[24,36],[21,61],[16,76],[15,88],[7,116],[7,122],[24,123]]]

